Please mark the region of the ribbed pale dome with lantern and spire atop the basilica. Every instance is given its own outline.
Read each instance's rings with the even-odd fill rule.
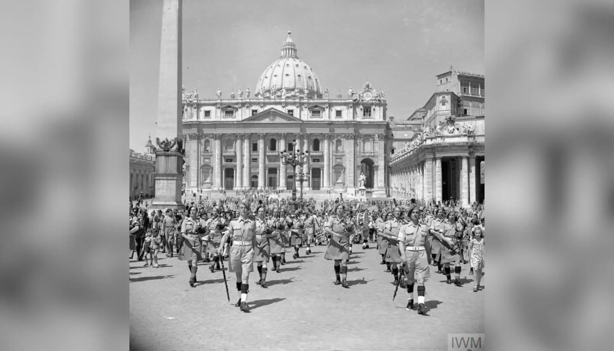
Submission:
[[[321,98],[322,88],[313,69],[297,57],[296,45],[290,39],[288,32],[286,43],[281,48],[281,57],[271,63],[260,75],[255,95],[279,97],[300,94]]]

